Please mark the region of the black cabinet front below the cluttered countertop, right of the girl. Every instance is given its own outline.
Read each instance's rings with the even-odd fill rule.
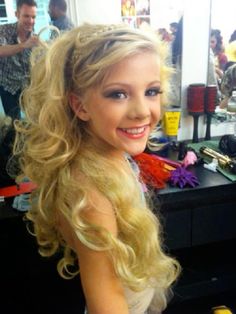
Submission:
[[[236,298],[236,182],[203,167],[192,171],[198,187],[158,195],[168,250],[183,267],[173,302],[227,291]]]

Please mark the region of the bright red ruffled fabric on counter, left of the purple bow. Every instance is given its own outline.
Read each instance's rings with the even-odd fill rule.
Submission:
[[[170,178],[170,171],[165,169],[165,163],[158,160],[156,156],[141,153],[132,157],[140,169],[140,176],[143,182],[157,189],[166,186]]]

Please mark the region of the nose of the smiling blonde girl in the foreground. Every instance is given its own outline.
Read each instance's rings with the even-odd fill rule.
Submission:
[[[150,116],[150,108],[145,96],[140,95],[130,100],[128,117],[130,119],[145,120]]]

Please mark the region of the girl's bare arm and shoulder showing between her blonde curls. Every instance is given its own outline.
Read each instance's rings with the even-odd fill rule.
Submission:
[[[93,209],[85,210],[83,215],[91,223],[103,226],[114,236],[117,235],[117,222],[110,202],[92,193]],[[96,205],[96,209],[95,209]],[[61,219],[60,219],[61,220]],[[86,305],[89,314],[128,314],[128,304],[121,281],[116,276],[107,252],[97,252],[83,245],[71,233],[71,227],[61,220],[62,235],[74,248],[79,259],[79,269]]]

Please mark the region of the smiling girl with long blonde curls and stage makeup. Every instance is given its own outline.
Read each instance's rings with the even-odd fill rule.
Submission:
[[[179,274],[130,162],[160,119],[165,58],[154,33],[86,24],[34,61],[23,94],[27,218],[43,256],[63,249],[61,276],[80,273],[90,314],[159,313]]]

